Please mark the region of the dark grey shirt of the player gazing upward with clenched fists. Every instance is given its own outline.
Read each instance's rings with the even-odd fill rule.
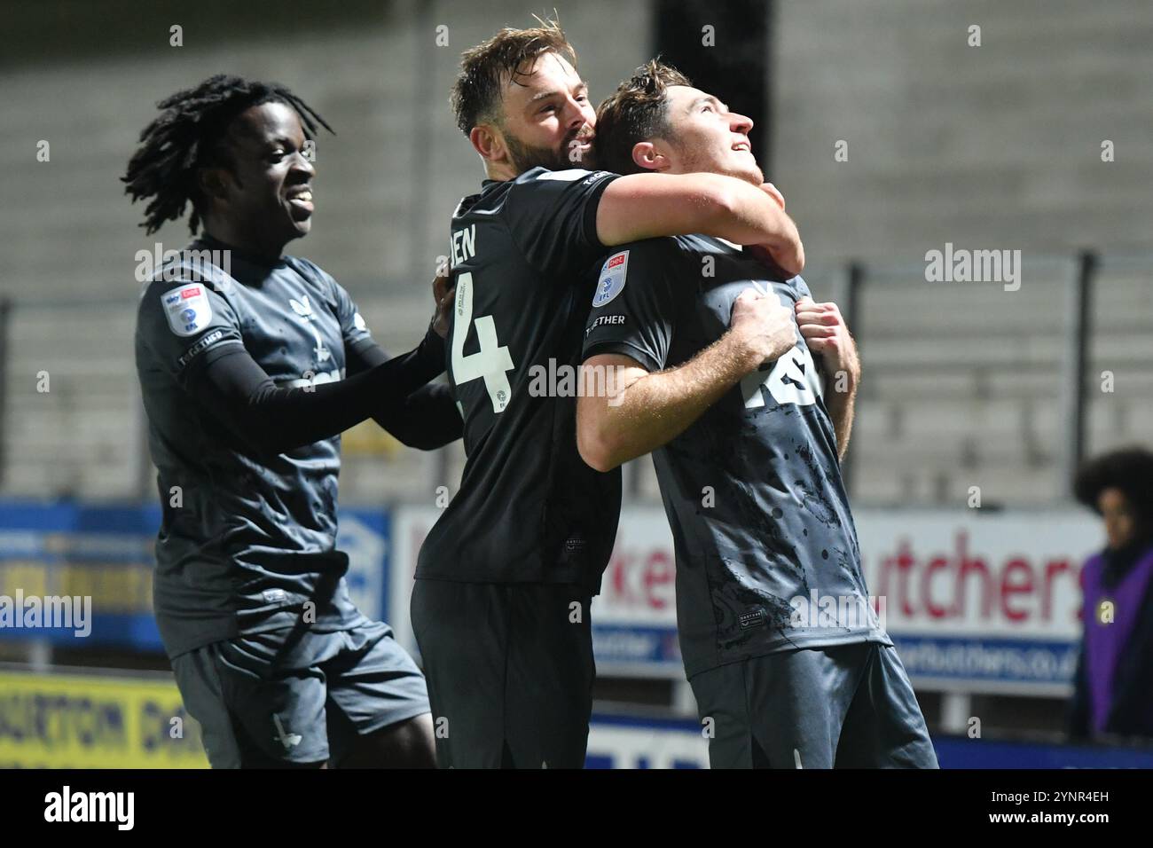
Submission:
[[[621,247],[591,275],[585,357],[620,353],[650,372],[716,342],[745,288],[789,307],[809,294],[799,276],[774,275],[701,235]],[[868,606],[822,392],[798,330],[796,347],[653,453],[676,547],[688,676],[792,648],[891,644]]]

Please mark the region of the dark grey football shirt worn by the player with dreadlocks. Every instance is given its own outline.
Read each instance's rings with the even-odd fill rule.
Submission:
[[[336,549],[340,437],[257,458],[186,387],[235,345],[278,387],[304,387],[341,380],[346,348],[375,343],[348,293],[308,260],[264,263],[233,250],[231,273],[219,270],[184,262],[175,279],[148,284],[137,312],[163,508],[153,602],[169,656],[291,628],[307,601],[314,631],[367,621]]]

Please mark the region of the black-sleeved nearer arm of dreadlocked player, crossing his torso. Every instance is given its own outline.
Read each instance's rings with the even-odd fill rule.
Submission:
[[[444,339],[424,340],[361,374],[334,383],[278,387],[241,345],[190,374],[186,390],[249,450],[284,453],[330,438],[368,418],[387,418],[444,370]]]

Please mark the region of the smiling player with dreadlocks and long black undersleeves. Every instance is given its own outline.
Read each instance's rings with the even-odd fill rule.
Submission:
[[[291,91],[218,75],[159,108],[123,181],[149,234],[189,204],[201,231],[136,327],[153,600],[184,705],[213,767],[434,765],[423,676],[349,599],[337,475],[339,434],[368,418],[415,448],[460,436],[425,385],[445,322],[390,359],[331,276],[282,255],[311,226],[306,141],[331,130]]]

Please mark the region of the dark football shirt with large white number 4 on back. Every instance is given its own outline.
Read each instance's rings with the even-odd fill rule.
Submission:
[[[419,579],[600,587],[620,474],[576,451],[574,375],[593,297],[585,270],[604,252],[597,204],[615,179],[536,167],[485,180],[453,213],[447,369],[468,459]]]

